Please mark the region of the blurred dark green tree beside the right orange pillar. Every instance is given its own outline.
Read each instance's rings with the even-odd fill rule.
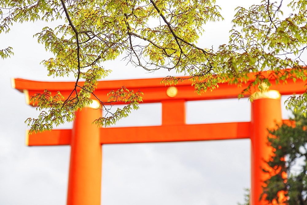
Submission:
[[[267,164],[272,176],[265,181],[263,194],[266,199],[278,201],[278,193],[284,191],[288,204],[307,204],[307,118],[302,110],[293,111],[295,124],[282,124],[270,131],[269,144],[274,156]],[[267,170],[268,171],[268,170]]]

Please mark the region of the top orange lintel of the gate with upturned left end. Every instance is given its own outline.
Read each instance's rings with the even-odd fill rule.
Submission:
[[[263,72],[263,75],[268,75],[269,72]],[[188,80],[179,82],[176,85],[177,95],[174,97],[169,97],[167,89],[169,86],[161,83],[162,78],[153,78],[153,79],[132,79],[132,80],[114,80],[114,81],[99,81],[95,95],[99,97],[103,102],[107,102],[107,94],[111,90],[117,90],[122,86],[125,86],[129,90],[142,91],[144,93],[143,103],[153,103],[161,102],[165,100],[206,100],[206,99],[227,99],[227,98],[237,98],[238,95],[243,91],[247,84],[253,79],[251,79],[243,84],[242,87],[237,85],[229,85],[228,83],[218,84],[219,88],[213,91],[207,91],[198,95],[195,92],[194,87],[191,86],[191,82]],[[269,75],[268,75],[269,76]],[[271,90],[278,90],[281,95],[292,95],[301,94],[305,92],[306,87],[304,82],[301,79],[297,79],[294,83],[293,80],[288,80],[285,85],[276,84],[275,78],[270,78],[272,86]],[[18,89],[21,92],[25,93],[26,102],[30,102],[31,96],[34,96],[36,93],[42,93],[45,89],[51,91],[52,95],[55,95],[57,91],[60,91],[64,97],[70,95],[75,82],[40,82],[40,81],[31,81],[25,79],[12,79],[12,87]],[[80,82],[82,86],[84,82]],[[94,99],[93,97],[91,99]]]

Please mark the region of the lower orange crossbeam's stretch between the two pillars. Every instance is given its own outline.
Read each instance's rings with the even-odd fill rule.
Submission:
[[[227,132],[225,132],[227,130]],[[116,135],[114,134],[116,133]],[[246,139],[250,122],[101,128],[101,144]]]

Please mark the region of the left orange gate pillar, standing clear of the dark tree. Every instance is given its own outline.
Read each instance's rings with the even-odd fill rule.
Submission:
[[[93,100],[93,103],[97,102]],[[71,139],[68,205],[100,205],[102,148],[99,127],[92,122],[101,117],[101,110],[94,108],[97,106],[76,112]]]

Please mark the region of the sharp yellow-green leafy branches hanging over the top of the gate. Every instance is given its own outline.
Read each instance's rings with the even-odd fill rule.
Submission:
[[[223,20],[215,0],[4,0],[0,2],[0,32],[9,32],[14,23],[45,21],[46,27],[35,36],[54,55],[43,61],[49,75],[76,77],[67,99],[60,94],[51,97],[48,91],[33,98],[47,112],[27,122],[32,131],[48,130],[58,122],[71,121],[74,111],[91,102],[86,96],[93,94],[97,80],[109,73],[103,63],[119,55],[148,71],[175,69],[187,77],[168,76],[163,82],[189,79],[198,93],[217,88],[217,83],[246,83],[250,72],[259,74],[243,93],[261,82],[270,85],[260,74],[265,70],[273,71],[271,77],[277,77],[277,82],[305,80],[301,55],[307,47],[306,2],[289,2],[293,14],[285,17],[282,0],[265,0],[248,9],[238,7],[229,43],[217,50],[197,46],[204,25]],[[48,27],[49,21],[58,19],[64,23]],[[0,50],[2,58],[12,54],[10,47]],[[282,72],[285,68],[292,69]],[[78,84],[80,79],[85,80],[84,86]],[[127,106],[113,113],[112,119],[125,117],[138,107],[139,92],[120,88],[115,93],[125,95],[119,98]],[[300,102],[305,105],[306,101]],[[35,126],[42,122],[44,126]],[[102,118],[96,122],[108,125],[115,121]]]

